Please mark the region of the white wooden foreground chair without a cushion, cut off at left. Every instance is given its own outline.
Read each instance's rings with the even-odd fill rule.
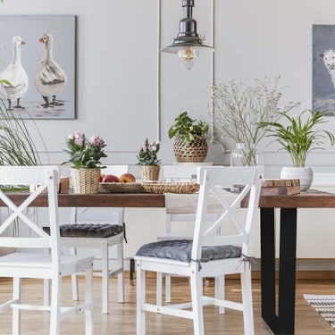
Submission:
[[[53,166],[0,166],[0,185],[38,186],[21,204],[14,204],[4,190],[0,199],[8,208],[8,217],[0,225],[0,247],[7,255],[0,256],[0,277],[13,278],[13,297],[1,302],[0,313],[13,309],[13,334],[21,333],[21,310],[50,312],[50,335],[60,333],[60,323],[67,317],[85,312],[86,334],[93,334],[93,255],[65,255],[61,252],[57,200],[58,168]],[[46,224],[50,234],[42,229],[37,215],[31,215],[29,205],[47,192]],[[19,236],[15,231],[29,231]],[[13,231],[12,234],[8,234]],[[85,272],[85,301],[82,304],[61,306],[62,278],[76,272]],[[49,306],[32,304],[21,292],[21,279],[47,279],[52,281]],[[41,285],[42,289],[42,285]],[[41,290],[42,292],[42,290]],[[36,292],[38,295],[38,292]],[[0,333],[1,324],[0,324]],[[25,333],[25,331],[22,331]]]

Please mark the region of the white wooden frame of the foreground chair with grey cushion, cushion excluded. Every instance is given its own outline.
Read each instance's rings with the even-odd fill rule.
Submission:
[[[252,241],[255,230],[255,219],[261,189],[261,168],[259,167],[206,167],[198,169],[200,191],[197,203],[197,220],[193,236],[191,260],[180,262],[173,259],[136,255],[137,261],[137,334],[146,333],[146,312],[168,314],[193,320],[194,334],[203,335],[203,306],[215,305],[243,311],[245,334],[254,334],[251,266]],[[218,185],[245,185],[233,200],[226,199]],[[206,206],[209,193],[214,194],[224,210],[220,218],[208,227],[205,225]],[[230,196],[232,197],[232,195]],[[240,202],[248,197],[246,219],[240,220],[236,210]],[[215,230],[223,222],[230,220],[238,230],[237,234],[218,236]],[[245,223],[245,225],[243,224]],[[208,224],[208,223],[207,223]],[[159,242],[156,242],[159,243]],[[224,258],[201,262],[203,246],[240,245],[242,255],[236,258]],[[191,302],[157,306],[146,300],[146,272],[167,272],[188,276],[191,287]],[[228,273],[240,273],[242,303],[228,301],[221,297],[203,296],[203,278],[220,277]],[[186,310],[191,308],[191,310]]]

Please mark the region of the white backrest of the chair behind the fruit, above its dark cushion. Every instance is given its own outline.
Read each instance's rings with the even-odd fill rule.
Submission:
[[[106,165],[101,171],[104,174],[113,174],[120,177],[122,173],[129,172],[129,165]],[[122,225],[124,221],[124,208],[71,208],[71,223],[77,222],[113,222]]]

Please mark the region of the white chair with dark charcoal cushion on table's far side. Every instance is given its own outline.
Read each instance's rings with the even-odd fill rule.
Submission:
[[[104,174],[118,177],[129,172],[129,165],[107,165]],[[62,243],[64,247],[71,247],[71,253],[77,254],[87,249],[95,249],[95,275],[102,276],[102,313],[109,313],[109,279],[118,276],[118,302],[124,302],[123,277],[123,240],[125,233],[124,208],[86,208],[72,207],[70,224],[62,227]],[[110,253],[114,248],[114,257]],[[98,266],[98,258],[100,263]],[[114,262],[114,264],[112,264]],[[72,275],[72,298],[79,299],[78,277]]]

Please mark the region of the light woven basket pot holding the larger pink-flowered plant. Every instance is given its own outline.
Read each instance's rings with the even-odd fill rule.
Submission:
[[[94,194],[99,192],[100,169],[71,169],[74,193]]]

